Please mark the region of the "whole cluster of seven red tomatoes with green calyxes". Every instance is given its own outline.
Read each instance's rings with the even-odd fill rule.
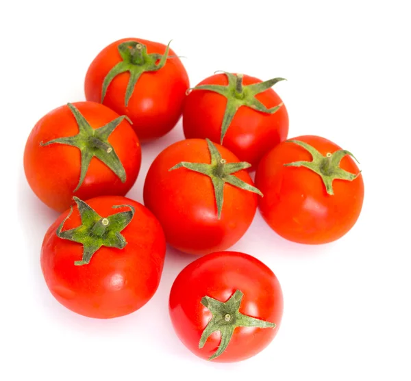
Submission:
[[[245,234],[257,207],[286,239],[334,241],[355,224],[364,198],[349,151],[319,136],[286,140],[286,107],[271,88],[278,81],[217,73],[189,88],[169,46],[129,38],[103,49],[86,74],[87,101],[50,111],[25,147],[30,187],[62,212],[41,252],[53,296],[88,317],[132,313],[158,288],[167,242],[206,254],[171,288],[183,343],[217,361],[266,347],[282,319],[279,282],[258,259],[223,250]],[[140,142],[181,116],[186,140],[151,163],[144,206],[125,198]]]

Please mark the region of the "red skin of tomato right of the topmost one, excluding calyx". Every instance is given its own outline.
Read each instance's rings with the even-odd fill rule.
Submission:
[[[244,75],[242,83],[251,85],[261,82],[260,79]],[[224,74],[212,75],[201,81],[199,85],[215,84],[226,86],[227,77]],[[273,89],[256,95],[258,101],[267,108],[282,103],[281,98]],[[225,112],[227,98],[216,92],[192,90],[186,97],[183,111],[184,135],[190,139],[199,137],[220,143],[221,124]],[[240,159],[251,163],[251,170],[261,157],[271,148],[286,139],[288,134],[288,113],[282,105],[274,114],[264,114],[249,107],[240,107],[234,116],[223,140],[227,147]]]

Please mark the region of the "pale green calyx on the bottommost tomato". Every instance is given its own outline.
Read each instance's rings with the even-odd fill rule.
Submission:
[[[274,323],[240,313],[239,309],[243,295],[240,290],[236,290],[232,297],[225,303],[210,298],[210,296],[204,296],[201,299],[201,304],[212,313],[212,319],[208,322],[201,334],[199,348],[201,349],[206,344],[208,337],[210,337],[212,333],[220,331],[221,334],[219,348],[208,360],[213,360],[223,354],[237,327],[275,328]]]

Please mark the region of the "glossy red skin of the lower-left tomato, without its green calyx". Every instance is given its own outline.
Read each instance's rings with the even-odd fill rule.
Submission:
[[[158,220],[140,203],[121,196],[101,196],[86,201],[106,217],[129,208],[136,209],[132,221],[121,231],[127,245],[123,249],[101,247],[88,265],[76,266],[83,246],[56,235],[65,211],[50,226],[41,250],[41,267],[47,287],[61,304],[75,313],[107,319],[132,313],[146,304],[160,283],[166,244]],[[77,207],[64,229],[81,225]]]

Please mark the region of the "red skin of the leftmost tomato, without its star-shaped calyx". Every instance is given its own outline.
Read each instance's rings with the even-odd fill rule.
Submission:
[[[94,102],[73,103],[93,129],[119,117],[108,107]],[[140,170],[141,148],[138,137],[127,120],[123,120],[108,142],[119,156],[126,173],[125,183],[102,161],[93,157],[86,177],[77,192],[80,178],[81,154],[77,147],[66,144],[40,146],[58,137],[79,132],[69,107],[62,106],[43,116],[32,129],[25,146],[24,169],[34,193],[56,211],[64,211],[73,203],[73,196],[82,200],[103,195],[124,196],[134,185]]]

